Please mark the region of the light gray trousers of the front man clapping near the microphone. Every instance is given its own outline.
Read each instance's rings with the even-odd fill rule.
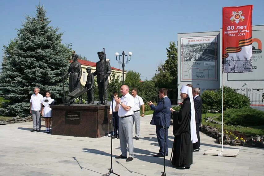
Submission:
[[[132,116],[126,118],[119,117],[119,139],[120,139],[120,147],[123,157],[128,156],[134,157],[134,145],[133,145],[133,118]],[[127,150],[128,144],[128,150]]]

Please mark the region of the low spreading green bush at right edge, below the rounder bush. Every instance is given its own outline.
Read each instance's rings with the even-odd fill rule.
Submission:
[[[264,125],[264,112],[253,108],[228,109],[224,111],[224,122],[231,125]]]

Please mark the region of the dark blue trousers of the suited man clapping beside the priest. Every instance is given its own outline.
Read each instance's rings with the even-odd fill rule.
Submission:
[[[168,137],[168,129],[169,127],[166,127],[166,153],[168,154],[168,146],[169,146],[169,137]],[[163,129],[163,126],[156,125],[156,133],[157,133],[157,138],[158,138],[158,145],[159,145],[159,152],[164,155],[164,133],[165,130]]]

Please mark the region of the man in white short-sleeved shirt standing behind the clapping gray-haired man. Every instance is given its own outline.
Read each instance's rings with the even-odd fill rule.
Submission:
[[[136,130],[136,140],[139,140],[140,135],[140,118],[144,117],[145,105],[143,99],[137,95],[137,89],[132,88],[131,95],[134,97],[135,105],[134,105],[134,114],[133,117],[133,124],[135,122],[135,130]],[[142,113],[140,114],[140,106],[142,107]]]

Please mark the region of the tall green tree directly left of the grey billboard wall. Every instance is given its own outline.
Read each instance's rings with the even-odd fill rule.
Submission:
[[[158,66],[158,74],[153,77],[156,86],[159,88],[177,88],[178,72],[178,50],[175,42],[171,41],[167,49],[167,60],[161,66]]]

